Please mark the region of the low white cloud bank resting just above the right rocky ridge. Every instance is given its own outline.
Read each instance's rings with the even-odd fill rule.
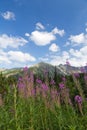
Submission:
[[[52,65],[66,64],[68,60],[72,66],[85,66],[87,63],[87,46],[80,49],[69,49],[68,51],[61,51],[58,54],[49,54],[48,58]]]

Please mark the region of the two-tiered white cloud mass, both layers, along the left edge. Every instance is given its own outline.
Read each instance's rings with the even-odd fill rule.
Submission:
[[[20,46],[24,46],[26,43],[28,41],[23,37],[8,36],[7,34],[0,35],[0,66],[7,68],[22,67],[27,63],[30,64],[36,61],[36,58],[31,54],[17,51]],[[11,51],[8,51],[9,49]]]

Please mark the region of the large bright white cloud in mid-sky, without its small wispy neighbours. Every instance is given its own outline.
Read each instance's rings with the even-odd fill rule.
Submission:
[[[30,39],[38,46],[45,46],[50,44],[51,41],[54,41],[56,36],[51,32],[34,31],[31,33]]]

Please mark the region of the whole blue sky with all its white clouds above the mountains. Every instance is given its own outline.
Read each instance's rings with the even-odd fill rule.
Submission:
[[[0,68],[87,63],[87,0],[0,1]]]

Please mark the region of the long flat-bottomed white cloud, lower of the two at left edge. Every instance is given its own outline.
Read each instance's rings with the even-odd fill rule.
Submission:
[[[27,63],[36,61],[36,58],[29,53],[23,53],[22,51],[8,51],[5,52],[0,49],[0,65],[8,68],[22,67]]]

